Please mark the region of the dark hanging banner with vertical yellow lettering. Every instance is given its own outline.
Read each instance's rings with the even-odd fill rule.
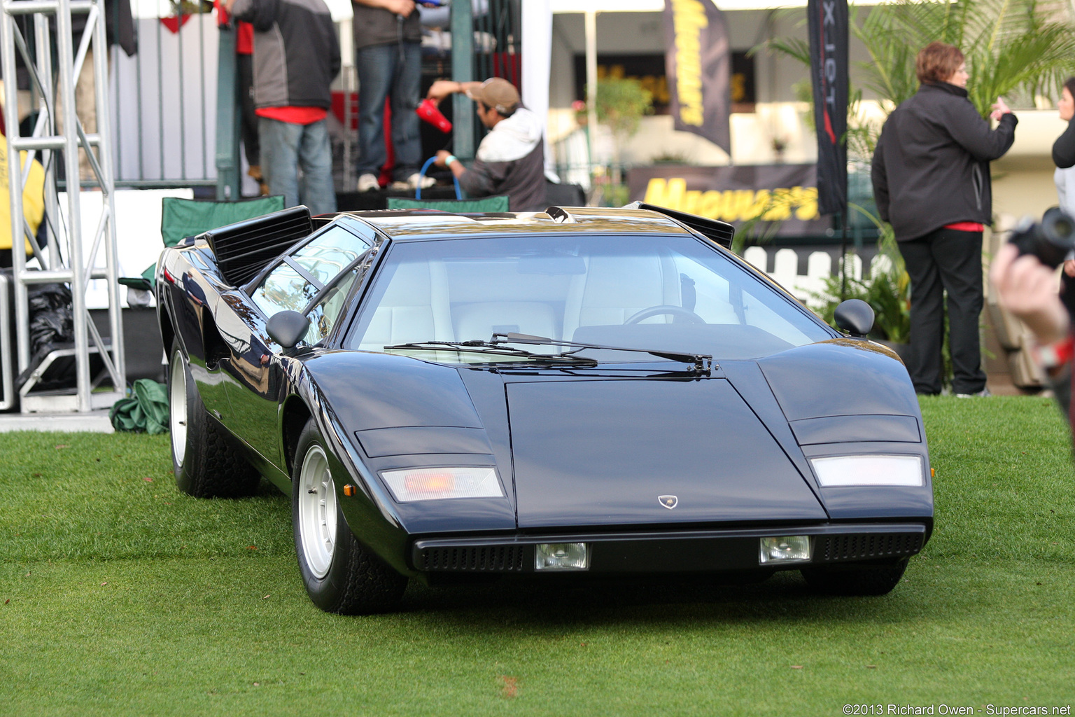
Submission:
[[[675,129],[731,154],[731,46],[713,0],[664,0],[664,68]]]

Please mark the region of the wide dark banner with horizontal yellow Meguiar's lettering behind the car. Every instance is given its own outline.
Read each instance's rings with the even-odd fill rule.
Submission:
[[[831,223],[817,211],[814,164],[656,166],[627,174],[630,201],[741,224],[757,233],[823,236]]]

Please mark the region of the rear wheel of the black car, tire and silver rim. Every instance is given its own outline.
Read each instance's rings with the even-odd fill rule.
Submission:
[[[195,498],[253,496],[261,476],[205,411],[178,343],[168,361],[168,411],[175,485]]]

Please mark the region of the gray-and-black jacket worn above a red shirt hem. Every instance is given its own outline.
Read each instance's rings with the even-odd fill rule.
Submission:
[[[254,106],[325,107],[340,72],[340,43],[324,0],[235,0],[254,26]]]

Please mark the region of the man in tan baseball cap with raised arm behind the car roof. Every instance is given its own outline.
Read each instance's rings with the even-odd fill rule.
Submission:
[[[436,153],[435,164],[447,167],[471,197],[507,195],[513,212],[543,211],[545,143],[541,117],[520,104],[519,90],[502,77],[467,83],[438,80],[428,97],[440,102],[453,92],[464,92],[474,100],[478,119],[489,133],[478,144],[470,169],[446,149]]]

